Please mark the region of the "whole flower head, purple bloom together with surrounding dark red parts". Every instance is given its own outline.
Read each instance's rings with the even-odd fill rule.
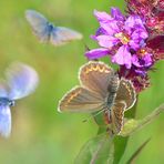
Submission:
[[[141,3],[143,6],[136,6]],[[162,3],[148,3],[144,0],[127,0],[129,14],[124,16],[117,8],[111,8],[111,14],[94,11],[100,27],[92,39],[100,48],[85,53],[89,60],[110,55],[111,61],[120,65],[119,74],[130,79],[136,92],[148,86],[147,71],[152,69],[155,61],[164,59],[164,35],[163,24],[160,14],[156,27],[150,27],[150,19],[154,8],[160,10]],[[132,6],[132,8],[130,8]],[[144,10],[142,10],[142,8]],[[140,9],[139,9],[140,8]],[[155,12],[155,11],[154,11]],[[153,12],[154,18],[155,16]],[[146,13],[146,14],[145,14]],[[157,17],[158,18],[158,17]],[[158,28],[158,29],[157,29]],[[156,32],[158,30],[158,32]]]

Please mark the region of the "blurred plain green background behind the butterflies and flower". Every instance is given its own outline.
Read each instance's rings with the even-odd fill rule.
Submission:
[[[1,0],[0,1],[0,78],[12,61],[32,65],[40,75],[35,93],[12,107],[12,133],[0,139],[1,164],[71,164],[81,146],[96,134],[98,126],[88,114],[58,113],[58,101],[79,83],[78,70],[86,62],[84,44],[95,48],[90,39],[98,22],[93,9],[109,11],[111,6],[124,9],[123,0]],[[27,9],[35,9],[58,25],[83,33],[83,41],[55,48],[41,44],[24,19]],[[106,60],[107,61],[107,60]],[[164,101],[164,63],[151,74],[152,86],[140,95],[137,119],[145,116]],[[147,137],[151,142],[136,163],[164,163],[164,114],[135,133],[121,163]]]

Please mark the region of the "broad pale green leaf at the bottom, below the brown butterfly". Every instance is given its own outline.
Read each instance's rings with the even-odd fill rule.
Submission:
[[[76,156],[75,164],[111,164],[114,157],[113,139],[106,133],[88,141]]]

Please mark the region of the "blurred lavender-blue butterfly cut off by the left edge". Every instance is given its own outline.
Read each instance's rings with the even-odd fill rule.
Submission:
[[[11,133],[10,106],[14,101],[31,94],[39,82],[37,72],[23,63],[13,63],[6,72],[7,81],[0,82],[0,134]]]

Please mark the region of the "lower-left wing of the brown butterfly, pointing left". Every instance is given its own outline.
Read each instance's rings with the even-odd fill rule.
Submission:
[[[68,92],[59,103],[59,112],[95,112],[103,107],[100,94],[76,86]]]

